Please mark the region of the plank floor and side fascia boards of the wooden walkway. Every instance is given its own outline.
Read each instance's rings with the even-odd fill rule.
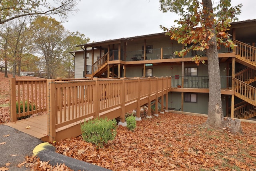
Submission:
[[[162,92],[161,92],[162,93]],[[160,94],[159,92],[159,97]],[[150,96],[150,101],[155,99],[156,93],[152,94]],[[146,105],[148,103],[148,99],[146,97],[142,97],[139,100],[141,102],[141,105]],[[125,104],[125,112],[131,111],[133,109],[136,109],[137,107],[138,100],[130,101],[129,103]],[[121,107],[114,107],[110,110],[104,111],[99,113],[100,117],[104,116],[109,116],[112,115],[114,117],[114,113],[117,113],[117,111],[121,112]],[[66,110],[67,112],[67,110]],[[63,113],[64,109],[62,111],[58,111],[58,120],[60,120],[60,113],[62,113],[62,121],[64,121]],[[75,113],[74,113],[75,115]],[[118,115],[119,116],[119,115]],[[93,117],[87,117],[86,120],[92,119]],[[81,130],[80,130],[80,123],[83,123],[84,119],[73,122],[71,124],[65,125],[63,127],[60,127],[56,129],[56,135],[58,135],[58,138],[56,138],[56,141],[59,141],[60,139],[66,138],[66,134],[69,134],[68,132],[72,132],[72,135],[78,136],[81,135]],[[42,141],[48,141],[49,133],[47,132],[48,130],[48,114],[44,115],[39,115],[39,116],[34,116],[26,119],[21,119],[16,122],[10,122],[6,123],[5,125],[8,125],[10,127],[13,127],[19,131],[22,131],[24,133],[27,133],[29,135],[32,135],[38,139],[41,139]],[[27,128],[29,127],[29,128]]]

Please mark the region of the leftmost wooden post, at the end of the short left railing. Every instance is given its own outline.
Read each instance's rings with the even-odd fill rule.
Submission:
[[[16,114],[16,80],[9,78],[10,81],[10,119],[11,122],[17,121]]]

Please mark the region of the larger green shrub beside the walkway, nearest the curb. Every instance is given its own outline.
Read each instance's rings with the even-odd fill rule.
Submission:
[[[90,119],[81,124],[81,131],[84,141],[103,147],[103,143],[108,143],[116,137],[116,120]]]

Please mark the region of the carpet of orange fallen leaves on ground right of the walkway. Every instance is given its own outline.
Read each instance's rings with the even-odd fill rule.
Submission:
[[[204,125],[206,117],[159,113],[137,121],[135,131],[119,126],[116,138],[97,149],[82,137],[54,146],[58,153],[120,170],[254,170],[254,123],[242,123],[244,134]]]

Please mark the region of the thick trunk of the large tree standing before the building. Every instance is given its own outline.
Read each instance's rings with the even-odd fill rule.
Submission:
[[[223,111],[221,102],[221,84],[220,84],[220,66],[218,59],[218,49],[215,36],[214,16],[211,0],[202,0],[204,8],[204,23],[209,29],[211,38],[208,40],[209,49],[206,49],[208,57],[208,74],[209,74],[209,103],[208,119],[206,123],[212,127],[223,127]]]

